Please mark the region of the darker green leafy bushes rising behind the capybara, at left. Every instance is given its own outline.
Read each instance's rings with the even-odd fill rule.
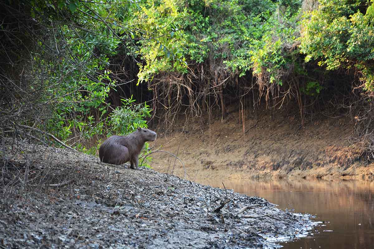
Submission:
[[[138,45],[154,42],[166,48],[163,58],[159,56],[158,59],[169,61],[177,51],[172,50],[173,56],[169,55],[168,38],[176,39],[180,32],[175,26],[156,32],[149,28],[152,21],[148,23],[150,26],[144,25],[145,29],[141,25],[131,26],[137,11],[148,13],[137,3],[116,0],[107,3],[30,1],[30,16],[36,23],[45,25],[48,34],[33,37],[38,49],[31,51],[30,62],[40,65],[30,74],[47,74],[34,83],[42,86],[37,89],[41,93],[40,102],[48,103],[49,107],[48,114],[38,119],[40,129],[46,128],[78,150],[96,153],[96,146],[86,148],[85,141],[94,136],[127,134],[137,127],[146,127],[145,119],[150,117],[151,109],[145,103],[135,105],[132,97],[123,99],[123,106],[109,113],[108,93],[115,90],[116,84],[108,69],[110,58],[123,44],[139,54],[142,49]],[[135,40],[141,41],[135,45]]]

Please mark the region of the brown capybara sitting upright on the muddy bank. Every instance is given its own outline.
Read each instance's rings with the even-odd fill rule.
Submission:
[[[127,136],[111,136],[99,148],[101,162],[108,164],[124,164],[130,161],[132,169],[139,169],[138,157],[146,141],[156,140],[157,134],[154,131],[144,128]]]

